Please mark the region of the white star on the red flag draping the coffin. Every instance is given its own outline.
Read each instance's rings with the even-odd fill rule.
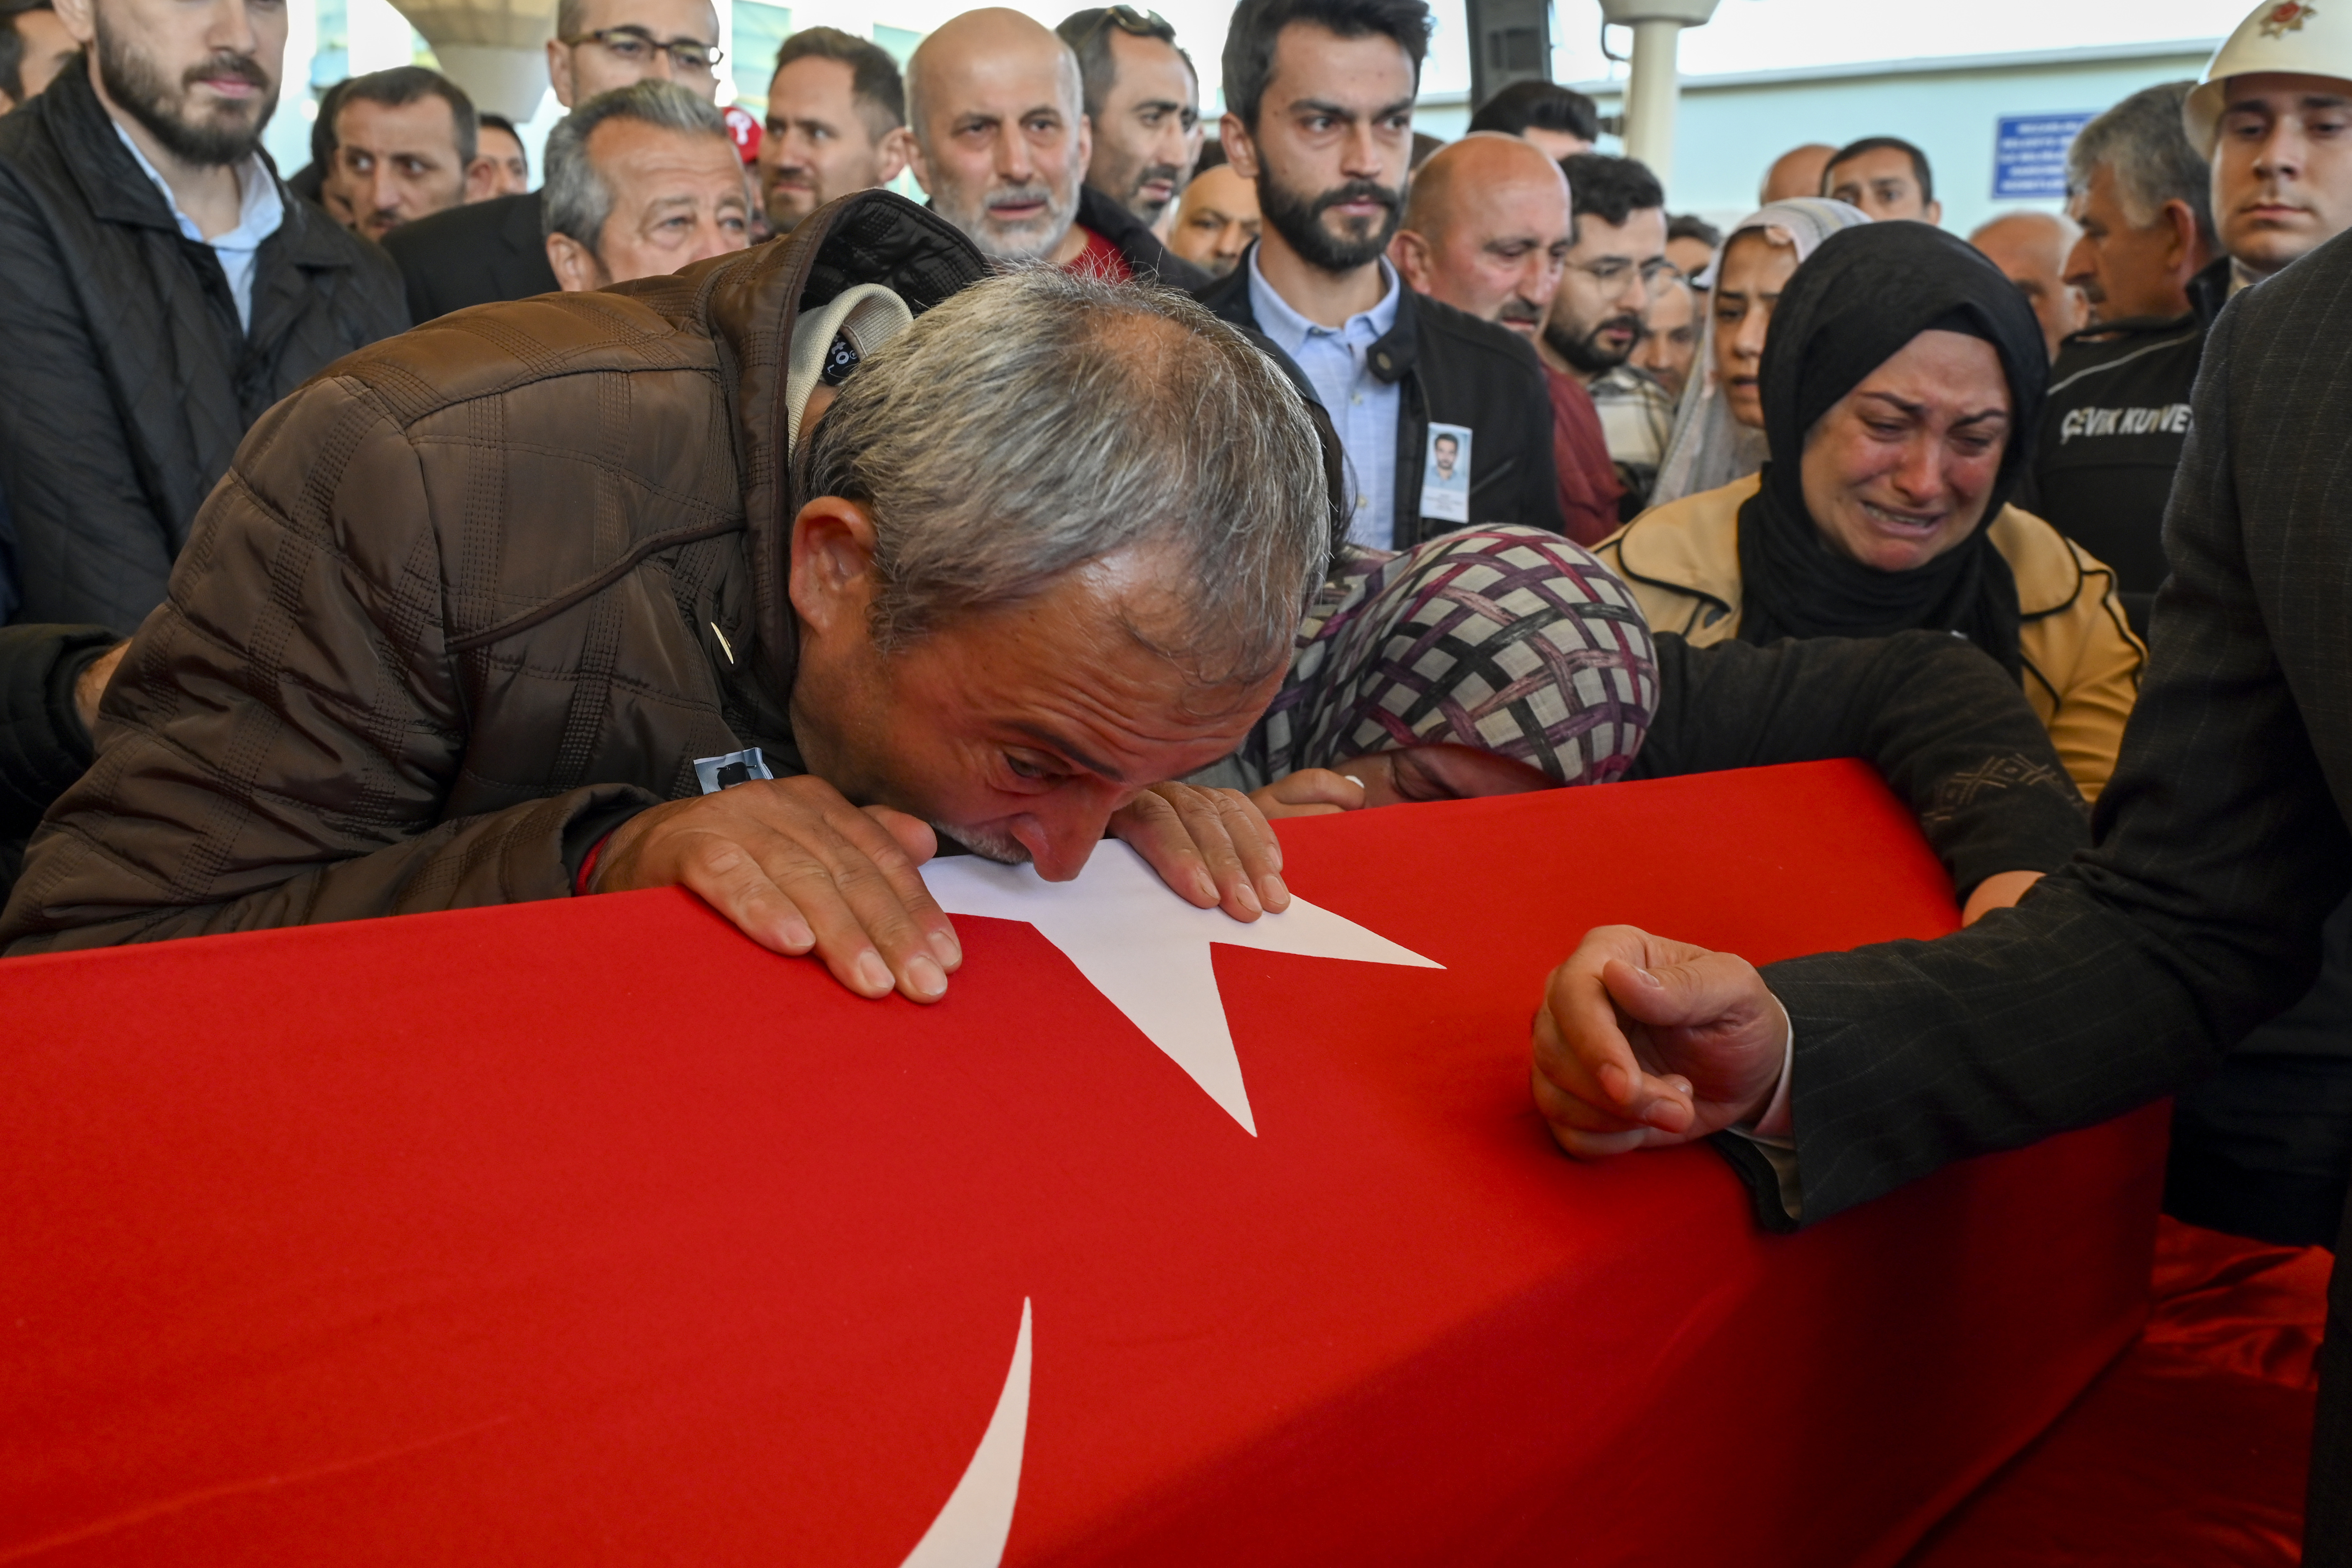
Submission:
[[[1289,910],[1254,922],[1232,919],[1223,910],[1195,910],[1120,839],[1103,842],[1073,882],[1047,882],[1033,865],[997,865],[981,856],[931,860],[922,879],[948,914],[1037,926],[1044,940],[1077,964],[1077,973],[1251,1138],[1258,1135],[1258,1124],[1249,1114],[1225,1001],[1216,994],[1211,943],[1312,959],[1444,969],[1296,893]]]

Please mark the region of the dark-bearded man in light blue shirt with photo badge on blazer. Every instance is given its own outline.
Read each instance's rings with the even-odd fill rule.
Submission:
[[[1397,235],[1428,49],[1423,0],[1242,0],[1225,33],[1221,143],[1265,228],[1202,303],[1275,341],[1348,456],[1348,538],[1409,548],[1463,524],[1562,531],[1552,402],[1517,334],[1406,289]],[[1439,433],[1470,470],[1423,505]],[[1461,515],[1456,515],[1461,512]]]

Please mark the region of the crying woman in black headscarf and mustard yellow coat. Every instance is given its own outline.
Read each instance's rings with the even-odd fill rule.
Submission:
[[[2114,574],[2009,505],[2046,386],[2032,308],[1976,249],[1926,223],[1839,230],[1764,339],[1764,473],[1644,512],[1599,557],[1653,632],[1700,646],[1966,637],[2096,799],[2147,651]]]

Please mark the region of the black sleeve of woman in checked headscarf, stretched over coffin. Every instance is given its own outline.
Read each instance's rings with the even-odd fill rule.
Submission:
[[[2018,684],[1940,632],[1693,649],[1663,632],[1632,778],[1860,757],[1919,818],[1962,900],[2091,842],[2082,795]]]

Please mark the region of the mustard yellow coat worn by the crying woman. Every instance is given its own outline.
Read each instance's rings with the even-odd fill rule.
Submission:
[[[1757,484],[1750,475],[1651,508],[1595,548],[1632,588],[1653,632],[1691,646],[1738,635],[1738,512]],[[2098,799],[2140,696],[2147,649],[2124,621],[2114,571],[2051,524],[2004,505],[1992,520],[1992,548],[2018,578],[2025,698],[2084,797]]]

